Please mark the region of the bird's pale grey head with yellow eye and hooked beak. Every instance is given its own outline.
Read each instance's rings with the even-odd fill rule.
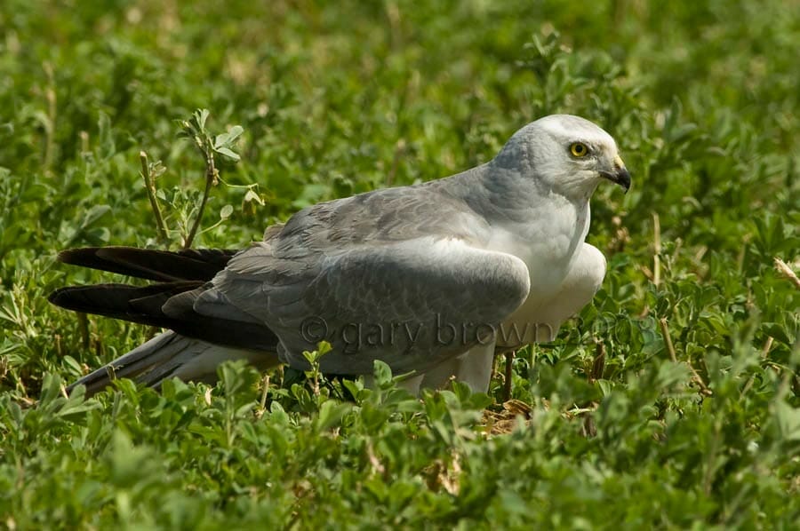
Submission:
[[[549,115],[508,140],[494,163],[535,179],[549,192],[583,199],[607,179],[630,187],[630,174],[612,136],[580,116]]]

